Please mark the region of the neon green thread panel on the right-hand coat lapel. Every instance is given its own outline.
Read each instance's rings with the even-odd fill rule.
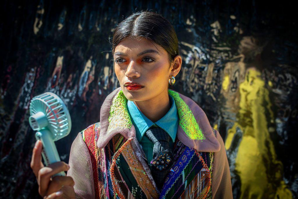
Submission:
[[[186,135],[193,140],[204,140],[205,136],[199,127],[195,116],[189,109],[185,101],[179,96],[178,92],[168,90],[169,94],[174,98],[179,115],[179,125]]]

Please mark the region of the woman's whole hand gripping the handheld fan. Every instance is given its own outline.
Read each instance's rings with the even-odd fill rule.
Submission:
[[[44,166],[41,162],[41,141],[36,141],[32,152],[30,166],[36,176],[38,183],[38,192],[44,199],[52,198],[75,198],[75,190],[73,186],[75,182],[70,176],[55,176],[52,175],[67,171],[69,165],[63,161]]]

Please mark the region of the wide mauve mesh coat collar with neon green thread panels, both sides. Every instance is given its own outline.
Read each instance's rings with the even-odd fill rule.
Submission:
[[[201,152],[218,152],[221,148],[204,111],[190,98],[169,89],[179,115],[177,138],[186,146]],[[104,148],[117,133],[135,138],[136,130],[127,111],[121,87],[111,92],[100,109],[99,148]]]

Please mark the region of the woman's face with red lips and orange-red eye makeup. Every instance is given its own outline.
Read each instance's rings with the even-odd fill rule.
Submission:
[[[145,101],[167,92],[169,76],[177,75],[170,68],[167,51],[143,37],[122,40],[115,47],[114,61],[116,76],[130,101]]]

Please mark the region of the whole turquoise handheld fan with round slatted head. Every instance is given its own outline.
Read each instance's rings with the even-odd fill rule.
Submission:
[[[29,111],[29,124],[34,131],[38,131],[35,133],[36,140],[41,140],[43,144],[45,164],[60,161],[54,141],[68,135],[72,127],[66,105],[56,94],[45,92],[32,98]],[[65,176],[65,173],[56,175]]]

